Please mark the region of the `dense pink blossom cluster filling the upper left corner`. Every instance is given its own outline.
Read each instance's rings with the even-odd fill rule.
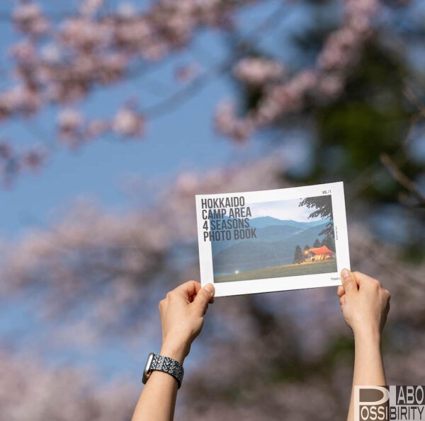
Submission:
[[[69,107],[84,100],[99,84],[125,80],[130,65],[137,60],[158,61],[186,47],[198,28],[229,28],[232,13],[245,2],[249,0],[236,4],[224,0],[183,0],[179,4],[159,1],[140,12],[123,3],[116,13],[102,14],[98,12],[103,0],[83,0],[79,13],[71,13],[52,25],[40,4],[17,2],[13,23],[28,40],[11,47],[12,73],[17,83],[0,93],[0,120],[16,115],[28,117],[52,103]],[[189,81],[197,73],[191,64],[178,69],[176,76]],[[119,110],[105,124],[90,123],[90,118],[80,122],[67,109],[64,116],[58,118],[58,133],[60,139],[72,145],[111,130],[120,136],[141,135],[145,126],[142,116],[132,110]],[[232,131],[242,139],[250,127],[248,118],[235,123]]]

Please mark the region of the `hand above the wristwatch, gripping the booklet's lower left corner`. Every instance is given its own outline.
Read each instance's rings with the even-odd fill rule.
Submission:
[[[183,364],[193,340],[203,326],[208,303],[214,301],[214,286],[201,288],[199,282],[188,281],[173,289],[159,302],[162,323],[161,355]]]

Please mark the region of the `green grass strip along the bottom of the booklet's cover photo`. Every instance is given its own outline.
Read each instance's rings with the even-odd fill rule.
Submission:
[[[247,281],[250,279],[278,278],[287,276],[313,275],[317,273],[336,272],[336,259],[324,262],[307,262],[293,265],[264,267],[258,270],[233,273],[214,277],[214,282]]]

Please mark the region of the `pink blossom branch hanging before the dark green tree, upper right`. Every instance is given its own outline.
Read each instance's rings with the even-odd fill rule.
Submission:
[[[219,105],[215,127],[222,134],[240,141],[254,129],[274,122],[278,117],[302,110],[305,98],[334,100],[344,91],[351,68],[358,63],[363,43],[371,33],[372,19],[378,10],[378,0],[345,0],[341,28],[324,41],[313,69],[305,69],[291,78],[285,77],[283,65],[264,59],[242,59],[234,67],[240,81],[255,85],[262,91],[256,109],[245,117]]]

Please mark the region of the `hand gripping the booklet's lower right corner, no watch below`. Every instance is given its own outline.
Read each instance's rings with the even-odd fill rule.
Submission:
[[[361,272],[341,271],[342,286],[338,287],[339,302],[354,336],[382,332],[390,311],[390,292],[377,279]]]

